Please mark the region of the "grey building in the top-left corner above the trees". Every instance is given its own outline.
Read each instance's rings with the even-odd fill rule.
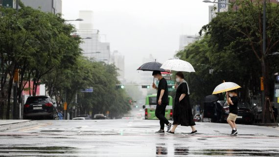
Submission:
[[[25,6],[53,14],[62,13],[62,0],[21,0]],[[15,2],[15,0],[14,0]],[[16,4],[14,3],[14,8]]]

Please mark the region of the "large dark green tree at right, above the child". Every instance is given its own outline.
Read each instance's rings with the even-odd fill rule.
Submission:
[[[259,87],[259,76],[263,76],[265,95],[270,96],[270,78],[275,72],[274,67],[278,67],[278,62],[270,60],[269,54],[279,50],[279,5],[267,2],[267,47],[263,51],[262,4],[262,0],[237,0],[235,5],[240,6],[237,11],[218,13],[200,33],[205,32],[210,36],[211,52],[218,54],[211,57],[216,64],[230,65],[232,73],[241,76],[239,82],[243,82],[243,86],[250,89],[256,87],[256,91]],[[263,70],[265,67],[266,70]],[[251,81],[252,78],[257,81]]]

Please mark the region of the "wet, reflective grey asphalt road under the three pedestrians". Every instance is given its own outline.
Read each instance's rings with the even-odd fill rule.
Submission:
[[[278,157],[279,128],[197,123],[197,135],[156,135],[157,120],[42,120],[0,132],[1,157]]]

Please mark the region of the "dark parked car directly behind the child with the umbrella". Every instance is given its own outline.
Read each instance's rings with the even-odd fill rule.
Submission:
[[[226,102],[223,106],[224,113],[222,115],[222,122],[226,122],[229,116],[229,105]],[[253,124],[254,123],[254,114],[249,107],[249,104],[244,102],[238,102],[238,114],[236,118],[236,123],[244,123],[244,124]]]

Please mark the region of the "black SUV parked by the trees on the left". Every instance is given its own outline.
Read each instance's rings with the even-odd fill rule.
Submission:
[[[58,119],[57,105],[49,96],[30,96],[23,107],[23,119]]]

